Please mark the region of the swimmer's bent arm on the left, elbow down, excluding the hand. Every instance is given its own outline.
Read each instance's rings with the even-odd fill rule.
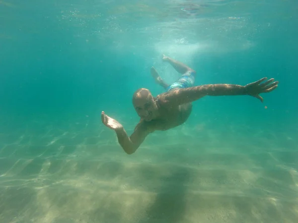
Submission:
[[[148,128],[144,123],[140,122],[134,133],[129,137],[124,130],[117,129],[115,130],[118,138],[118,142],[127,154],[133,154],[140,147],[140,145],[145,140],[146,136],[149,134]]]

